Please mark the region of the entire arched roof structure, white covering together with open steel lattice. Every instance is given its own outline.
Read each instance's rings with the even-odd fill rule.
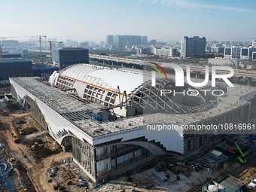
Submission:
[[[159,94],[160,90],[167,88],[178,91],[194,89],[194,87],[188,84],[184,87],[175,87],[175,81],[172,78],[157,79],[157,84],[153,87],[151,81],[145,81],[148,77],[150,76],[142,75],[142,72],[81,64],[64,69],[59,74],[54,72],[53,77],[50,77],[50,84],[64,90],[73,90],[83,99],[99,102],[108,108],[115,108],[114,112],[120,116],[126,116],[126,111],[119,111],[116,107],[128,105],[126,101],[133,108],[150,108],[172,114],[203,111],[217,103],[215,98],[203,96],[200,91],[197,97],[171,94],[162,96]]]

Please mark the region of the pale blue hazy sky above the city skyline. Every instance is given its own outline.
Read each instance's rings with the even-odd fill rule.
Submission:
[[[179,41],[256,38],[254,0],[11,0],[1,1],[0,37],[47,35],[105,41],[105,35],[147,35]]]

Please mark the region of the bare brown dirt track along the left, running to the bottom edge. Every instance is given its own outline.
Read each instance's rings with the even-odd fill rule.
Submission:
[[[47,157],[47,152],[50,151],[44,151],[45,158],[39,158],[39,160],[35,160],[32,151],[30,151],[26,145],[23,145],[22,143],[15,143],[11,138],[11,129],[14,129],[14,124],[12,121],[14,120],[15,116],[16,115],[11,117],[0,116],[1,137],[5,140],[5,150],[7,151],[7,155],[9,157],[15,157],[15,159],[20,162],[20,165],[17,167],[17,169],[19,170],[20,176],[23,178],[23,182],[26,184],[27,190],[29,192],[35,191],[35,189],[36,191],[42,192],[54,191],[53,187],[50,186],[46,181],[45,173],[47,172],[47,169],[49,169],[50,164],[53,163],[53,160],[62,160],[67,157],[71,157],[72,154],[58,152],[58,154],[50,155],[49,153],[48,156],[50,155],[50,157]],[[52,145],[53,139],[49,143],[49,145]],[[38,151],[38,154],[41,154],[41,152]],[[35,189],[33,189],[34,187]]]

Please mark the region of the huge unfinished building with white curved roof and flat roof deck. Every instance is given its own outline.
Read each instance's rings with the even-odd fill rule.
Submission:
[[[251,87],[219,87],[224,95],[217,97],[202,91],[197,96],[160,95],[160,90],[181,87],[175,87],[172,78],[157,79],[152,86],[145,76],[132,69],[81,64],[53,72],[49,83],[38,78],[10,82],[14,98],[63,150],[72,150],[93,181],[119,175],[157,155],[191,157],[220,142],[221,132],[194,134],[182,126],[248,123],[256,111]],[[188,84],[183,88],[194,89]],[[154,129],[159,123],[178,129]]]

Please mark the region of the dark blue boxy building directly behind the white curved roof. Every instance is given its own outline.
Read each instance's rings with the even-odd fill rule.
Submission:
[[[53,61],[59,63],[59,69],[78,63],[89,63],[89,50],[76,47],[53,50]]]

